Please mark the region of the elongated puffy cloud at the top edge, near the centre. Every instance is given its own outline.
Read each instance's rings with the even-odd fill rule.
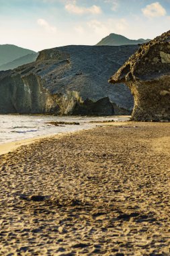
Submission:
[[[75,13],[78,15],[85,14],[85,13],[100,14],[102,12],[101,7],[97,5],[92,5],[91,7],[81,7],[77,5],[77,2],[75,0],[68,2],[65,5],[65,9],[70,13]]]

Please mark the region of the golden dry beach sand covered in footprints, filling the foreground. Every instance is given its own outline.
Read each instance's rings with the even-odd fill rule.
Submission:
[[[170,255],[170,123],[121,123],[0,156],[0,255]]]

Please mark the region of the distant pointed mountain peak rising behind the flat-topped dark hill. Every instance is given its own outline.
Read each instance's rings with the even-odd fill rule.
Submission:
[[[120,34],[110,34],[109,36],[106,36],[103,38],[100,42],[98,42],[96,45],[110,45],[110,46],[119,46],[119,45],[126,45],[126,44],[143,44],[144,42],[148,42],[151,39],[143,39],[140,38],[138,40],[131,40],[126,38],[125,36],[122,36]]]

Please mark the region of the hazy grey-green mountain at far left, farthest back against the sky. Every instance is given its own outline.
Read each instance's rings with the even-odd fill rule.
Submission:
[[[4,65],[32,53],[36,52],[13,44],[0,44],[0,65]]]

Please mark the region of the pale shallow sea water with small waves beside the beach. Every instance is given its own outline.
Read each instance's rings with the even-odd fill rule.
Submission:
[[[46,115],[0,115],[0,144],[42,135],[55,135],[71,131],[80,131],[96,127],[91,121],[126,121],[127,117],[58,117]],[[56,127],[47,122],[78,122],[80,125],[62,125]],[[98,124],[99,125],[99,124]]]

